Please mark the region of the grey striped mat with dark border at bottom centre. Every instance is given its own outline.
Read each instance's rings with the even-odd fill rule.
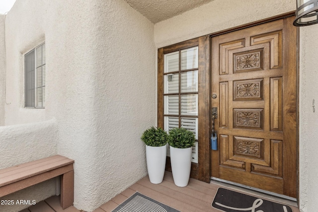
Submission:
[[[139,192],[133,194],[112,212],[180,212]]]

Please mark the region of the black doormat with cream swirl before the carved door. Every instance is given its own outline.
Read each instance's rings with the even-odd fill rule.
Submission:
[[[219,188],[212,207],[224,212],[293,212],[287,206]]]

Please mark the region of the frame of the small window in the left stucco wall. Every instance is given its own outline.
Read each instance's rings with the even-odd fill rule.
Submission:
[[[42,74],[41,76],[43,77],[43,67],[46,67],[46,61],[44,63],[42,63],[40,66],[37,66],[37,55],[36,55],[36,49],[39,48],[39,47],[43,47],[43,45],[45,45],[45,42],[42,42],[41,44],[37,45],[36,47],[32,48],[30,51],[28,51],[27,53],[24,54],[24,108],[37,108],[37,109],[44,109],[45,108],[45,92],[44,92],[44,95],[43,95],[43,90],[42,90],[42,106],[37,106],[38,105],[38,100],[37,100],[37,88],[40,88],[46,87],[45,85],[45,71],[44,71],[44,85],[42,84],[42,86],[37,86],[37,80],[38,80],[38,76],[37,76],[37,69],[38,68],[42,68]],[[46,47],[45,47],[46,48]],[[34,52],[34,106],[26,106],[26,103],[27,103],[27,82],[26,82],[26,79],[27,79],[27,70],[26,70],[26,56],[30,53]],[[41,60],[43,61],[43,48],[41,50],[42,52],[42,55],[41,55]],[[45,53],[46,53],[46,50],[45,50]],[[46,58],[46,57],[44,57]],[[45,59],[46,60],[46,59]],[[46,68],[45,68],[46,69]],[[43,83],[43,78],[42,78],[42,83]],[[31,85],[32,86],[32,85]],[[43,101],[44,100],[44,101]],[[32,100],[31,100],[32,102]]]

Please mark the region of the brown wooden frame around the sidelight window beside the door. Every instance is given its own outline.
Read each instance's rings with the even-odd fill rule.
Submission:
[[[158,127],[164,128],[164,55],[191,47],[199,47],[198,67],[198,162],[192,162],[191,177],[210,182],[210,36],[202,36],[158,49]],[[189,71],[189,70],[188,70]],[[182,71],[181,71],[182,72]],[[179,123],[180,124],[180,123]],[[171,171],[167,156],[166,170]]]

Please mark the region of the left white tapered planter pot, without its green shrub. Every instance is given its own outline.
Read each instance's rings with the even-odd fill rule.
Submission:
[[[146,145],[147,169],[150,182],[154,184],[159,184],[162,182],[166,155],[166,144],[164,146]]]

